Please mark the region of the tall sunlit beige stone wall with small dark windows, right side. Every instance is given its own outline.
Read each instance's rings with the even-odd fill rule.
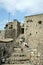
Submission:
[[[26,16],[24,26],[25,41],[31,48],[37,48],[43,40],[43,14]]]

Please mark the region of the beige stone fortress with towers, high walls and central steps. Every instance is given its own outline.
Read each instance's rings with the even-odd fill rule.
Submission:
[[[11,55],[2,65],[43,65],[43,14],[25,16],[23,24],[14,19],[4,28],[0,30],[0,46],[6,47]],[[23,52],[21,38],[29,46],[24,47]]]

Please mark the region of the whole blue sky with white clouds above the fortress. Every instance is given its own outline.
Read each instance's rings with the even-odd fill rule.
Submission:
[[[43,0],[0,0],[0,30],[14,19],[23,23],[24,16],[41,13],[43,13]]]

